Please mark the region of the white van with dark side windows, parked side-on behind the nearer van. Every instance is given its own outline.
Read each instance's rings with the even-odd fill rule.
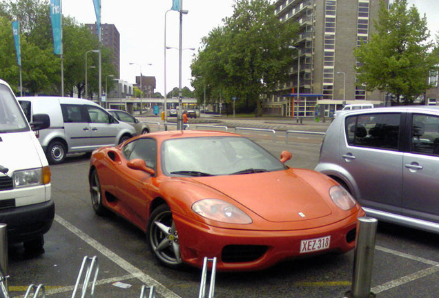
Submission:
[[[97,103],[72,97],[19,97],[26,117],[45,113],[50,128],[37,138],[49,163],[61,163],[67,153],[92,152],[102,146],[115,146],[137,135],[133,126],[115,117]]]

